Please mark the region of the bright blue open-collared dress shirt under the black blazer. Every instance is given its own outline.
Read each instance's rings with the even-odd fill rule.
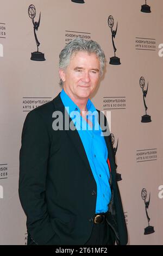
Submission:
[[[108,211],[108,204],[111,199],[110,173],[108,163],[106,162],[108,159],[108,149],[106,148],[105,139],[102,136],[102,130],[98,123],[98,112],[89,99],[86,108],[88,111],[87,119],[92,122],[91,127],[80,115],[79,107],[70,99],[64,89],[62,89],[60,97],[82,140],[92,174],[97,184],[96,214],[106,212]]]

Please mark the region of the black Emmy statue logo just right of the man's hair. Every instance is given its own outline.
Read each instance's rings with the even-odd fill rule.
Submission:
[[[114,44],[114,38],[115,38],[116,33],[117,33],[118,22],[117,22],[117,26],[116,26],[116,31],[112,30],[112,27],[114,26],[114,19],[113,19],[113,17],[112,17],[111,15],[108,17],[108,26],[109,26],[110,29],[111,29],[111,34],[112,34],[112,46],[113,46],[113,48],[114,48],[114,57],[111,57],[111,58],[110,58],[109,64],[111,64],[111,65],[120,65],[120,64],[121,64],[120,58],[116,57],[116,55],[115,55],[117,49],[116,49],[115,44]]]

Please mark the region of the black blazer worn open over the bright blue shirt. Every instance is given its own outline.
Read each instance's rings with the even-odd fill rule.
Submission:
[[[28,245],[84,245],[93,227],[96,181],[78,131],[53,130],[54,111],[65,118],[60,94],[29,112],[22,131],[18,191],[27,215]],[[112,174],[112,200],[106,219],[117,243],[126,245],[111,136],[105,136],[105,141]]]

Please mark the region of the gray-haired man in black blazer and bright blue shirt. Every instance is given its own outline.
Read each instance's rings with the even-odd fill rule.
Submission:
[[[104,65],[97,42],[71,41],[60,53],[61,93],[24,122],[19,194],[28,245],[127,244],[108,125],[89,99]]]

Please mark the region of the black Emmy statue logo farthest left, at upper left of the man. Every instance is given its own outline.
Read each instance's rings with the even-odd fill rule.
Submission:
[[[37,45],[37,51],[31,53],[31,58],[30,59],[31,60],[36,60],[36,61],[43,61],[43,60],[45,60],[44,53],[39,52],[40,42],[37,39],[37,35],[36,35],[36,31],[38,30],[38,28],[40,26],[41,13],[40,13],[40,16],[39,16],[39,21],[38,22],[34,21],[34,18],[36,16],[36,9],[35,9],[35,6],[33,4],[30,4],[29,7],[28,7],[28,15],[29,15],[30,19],[32,19],[32,23],[33,23],[33,26],[34,26],[34,36],[35,36],[36,45]]]

